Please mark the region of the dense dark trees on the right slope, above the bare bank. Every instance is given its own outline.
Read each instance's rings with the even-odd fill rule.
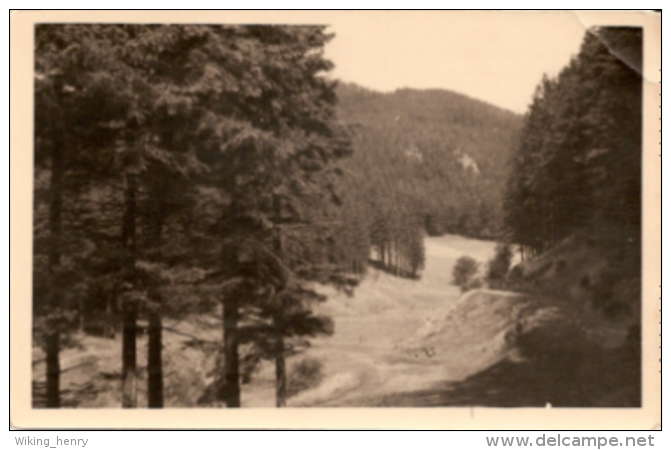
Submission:
[[[642,31],[598,28],[524,118],[505,200],[526,256],[581,230],[640,255]]]

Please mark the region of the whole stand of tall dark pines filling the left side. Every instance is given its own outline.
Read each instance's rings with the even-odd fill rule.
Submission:
[[[329,333],[313,282],[351,289],[368,236],[342,206],[351,152],[321,76],[322,27],[38,25],[34,335],[46,404],[77,326],[122,328],[122,405],[162,407],[166,317],[223,314],[217,395],[240,405],[239,347],[274,359]],[[353,217],[348,219],[348,215]]]

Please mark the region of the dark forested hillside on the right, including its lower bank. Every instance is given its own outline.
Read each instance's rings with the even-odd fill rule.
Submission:
[[[587,33],[580,53],[538,86],[505,203],[507,239],[529,260],[514,287],[594,307],[631,326],[632,342],[641,302],[641,67],[640,29]]]

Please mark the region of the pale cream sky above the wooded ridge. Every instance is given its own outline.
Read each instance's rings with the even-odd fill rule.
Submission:
[[[356,12],[333,16],[325,55],[342,81],[448,89],[523,113],[543,74],[578,53],[585,29],[571,12]]]

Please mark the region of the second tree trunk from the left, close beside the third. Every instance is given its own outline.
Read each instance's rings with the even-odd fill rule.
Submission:
[[[137,180],[136,175],[126,175],[126,210],[124,211],[122,241],[128,252],[126,260],[127,281],[135,288],[135,258],[137,216]],[[125,299],[123,304],[122,339],[122,383],[124,408],[137,407],[137,316],[138,305],[135,300]]]

